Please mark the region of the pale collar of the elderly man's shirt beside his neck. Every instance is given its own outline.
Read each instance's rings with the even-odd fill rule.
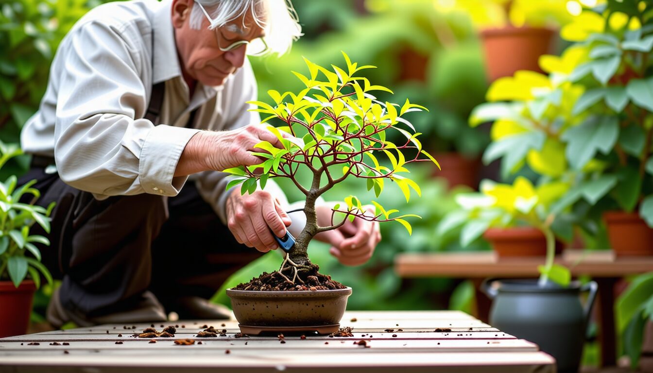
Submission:
[[[154,13],[152,82],[157,84],[182,76],[172,29],[172,0],[164,0]]]

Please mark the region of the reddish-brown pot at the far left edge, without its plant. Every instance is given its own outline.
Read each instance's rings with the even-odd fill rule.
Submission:
[[[0,338],[27,333],[36,290],[32,280],[24,280],[18,288],[13,282],[0,281]]]

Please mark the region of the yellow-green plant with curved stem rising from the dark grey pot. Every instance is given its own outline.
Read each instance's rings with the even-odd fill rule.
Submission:
[[[483,180],[480,192],[456,196],[456,202],[462,209],[450,212],[442,219],[438,225],[438,234],[462,226],[460,244],[468,246],[490,227],[534,227],[543,233],[547,242],[546,262],[538,267],[541,273],[539,284],[544,285],[551,280],[567,286],[571,280],[569,270],[554,264],[556,234],[553,225],[557,217],[551,212],[551,205],[560,199],[568,187],[562,182],[534,187],[523,176],[519,176],[513,185]]]

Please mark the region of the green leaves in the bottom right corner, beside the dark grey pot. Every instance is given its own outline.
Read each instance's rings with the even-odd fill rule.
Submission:
[[[652,372],[653,272],[635,277],[616,302],[617,329],[633,370]],[[646,354],[646,360],[641,359]]]

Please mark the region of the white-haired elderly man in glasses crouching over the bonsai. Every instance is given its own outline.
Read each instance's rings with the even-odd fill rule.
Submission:
[[[206,299],[275,250],[272,233],[302,228],[277,186],[241,195],[220,172],[278,141],[247,111],[246,54],[281,54],[300,35],[284,0],[109,3],[72,28],[21,139],[34,155],[23,180],[38,180],[40,205],[57,202],[44,259],[63,278],[54,326],[226,317]],[[318,238],[360,265],[380,235],[357,219]]]

